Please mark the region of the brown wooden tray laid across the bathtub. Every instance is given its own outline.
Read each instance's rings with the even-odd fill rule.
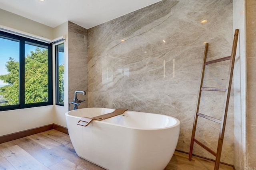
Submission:
[[[97,121],[102,121],[104,119],[108,119],[114,116],[122,115],[125,111],[128,111],[128,109],[116,109],[111,113],[107,113],[104,115],[96,116],[96,117],[82,117],[80,121],[78,121],[77,125],[81,126],[88,126],[92,121],[97,120]]]

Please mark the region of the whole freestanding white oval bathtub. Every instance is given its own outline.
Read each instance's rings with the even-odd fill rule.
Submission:
[[[85,108],[66,113],[76,153],[109,170],[163,170],[176,148],[180,121],[174,117],[126,111],[122,115],[76,125],[81,117],[95,117],[114,109]]]

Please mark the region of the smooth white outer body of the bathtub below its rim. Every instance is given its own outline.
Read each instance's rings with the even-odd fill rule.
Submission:
[[[133,117],[129,112],[124,114],[129,119]],[[120,115],[110,119],[121,122],[128,117]],[[179,122],[172,128],[149,130],[113,125],[114,120],[93,121],[82,127],[76,125],[78,120],[72,116],[67,118],[76,153],[109,170],[163,170],[174,154],[180,130]]]

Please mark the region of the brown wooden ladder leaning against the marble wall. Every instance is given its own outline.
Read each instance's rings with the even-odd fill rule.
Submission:
[[[231,83],[232,83],[234,63],[235,63],[235,57],[236,57],[236,46],[237,46],[237,41],[238,41],[238,33],[239,33],[239,30],[236,29],[235,34],[234,34],[232,52],[231,52],[231,55],[228,56],[228,57],[223,57],[223,58],[220,58],[220,59],[215,59],[215,60],[206,62],[206,56],[207,56],[207,51],[208,51],[208,43],[205,44],[205,49],[204,49],[204,60],[203,60],[202,72],[201,72],[200,89],[199,89],[199,94],[198,94],[196,115],[195,115],[195,118],[194,118],[194,125],[193,125],[193,130],[192,130],[192,137],[191,137],[191,142],[190,142],[190,152],[189,152],[189,158],[188,159],[191,160],[191,158],[192,158],[193,146],[194,146],[194,142],[196,142],[202,148],[204,148],[205,150],[207,150],[208,152],[210,152],[211,154],[213,154],[216,157],[214,170],[218,170],[219,166],[220,166],[220,156],[221,156],[221,150],[222,150],[225,127],[226,127],[226,119],[227,119],[227,113],[228,113],[228,103],[229,103],[229,98],[230,98]],[[202,87],[203,80],[204,80],[205,65],[212,64],[212,63],[217,63],[217,62],[220,62],[220,61],[226,61],[228,59],[230,59],[230,67],[229,67],[229,71],[228,71],[228,80],[227,80],[226,88]],[[225,91],[226,92],[225,101],[224,101],[224,107],[225,108],[223,110],[222,120],[219,120],[219,119],[216,119],[214,117],[210,117],[210,116],[204,115],[202,113],[199,113],[201,93],[202,93],[203,90],[206,90],[206,91]],[[219,135],[219,139],[218,139],[217,152],[214,152],[212,149],[210,149],[207,146],[205,146],[204,144],[202,144],[202,142],[196,140],[195,134],[196,134],[196,124],[197,124],[198,116],[220,124],[220,135]]]

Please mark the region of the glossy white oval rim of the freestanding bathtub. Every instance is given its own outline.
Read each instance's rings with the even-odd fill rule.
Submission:
[[[110,109],[110,108],[104,108],[104,107],[88,107],[88,108],[96,108],[96,109]],[[88,108],[82,108],[82,109],[88,109]],[[82,117],[78,117],[78,116],[73,116],[73,115],[69,115],[70,112],[73,112],[73,111],[76,111],[76,110],[72,110],[72,111],[68,111],[65,113],[65,116],[66,117],[74,117],[74,118],[77,118],[77,119],[81,119]],[[129,111],[128,112],[138,112],[138,111]],[[126,111],[124,112],[126,113]],[[124,114],[123,113],[123,114]],[[139,112],[139,113],[147,113],[147,112]],[[123,115],[122,114],[122,115]],[[172,126],[169,126],[169,127],[163,127],[163,128],[138,128],[138,127],[127,127],[127,126],[124,126],[124,125],[120,125],[120,124],[114,124],[114,123],[109,123],[109,122],[105,122],[104,120],[102,121],[97,121],[97,120],[94,120],[93,122],[97,122],[97,123],[104,123],[104,124],[108,124],[108,125],[115,125],[115,126],[118,126],[118,127],[123,127],[123,128],[131,128],[131,129],[136,129],[136,130],[164,130],[164,129],[168,129],[168,128],[175,128],[175,127],[178,127],[180,126],[180,121],[175,118],[175,117],[172,117],[172,116],[169,116],[169,115],[162,115],[162,114],[157,114],[157,113],[147,113],[147,114],[153,114],[153,115],[158,115],[158,116],[166,116],[166,117],[170,117],[174,120],[176,120],[176,123]],[[93,123],[92,122],[92,123]],[[80,126],[80,125],[78,125]],[[90,125],[88,125],[90,126]]]

